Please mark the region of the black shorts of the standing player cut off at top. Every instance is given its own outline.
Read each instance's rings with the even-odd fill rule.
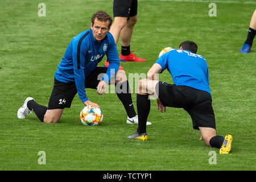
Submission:
[[[127,17],[137,15],[137,0],[114,0],[113,14],[115,16]]]

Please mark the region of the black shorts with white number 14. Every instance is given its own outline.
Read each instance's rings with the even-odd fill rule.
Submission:
[[[102,76],[98,77],[101,73],[106,73],[108,68],[97,67],[85,78],[85,88],[96,89],[98,82]],[[61,82],[54,79],[51,97],[49,98],[48,109],[64,109],[71,107],[73,98],[77,93],[75,82]]]

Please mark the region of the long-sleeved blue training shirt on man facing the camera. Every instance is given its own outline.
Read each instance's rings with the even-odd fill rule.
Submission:
[[[75,81],[80,100],[88,101],[85,93],[85,79],[105,55],[108,57],[109,67],[101,80],[109,84],[110,78],[117,73],[120,64],[113,36],[108,32],[106,37],[97,43],[91,28],[81,32],[69,43],[55,72],[55,78],[61,82]]]

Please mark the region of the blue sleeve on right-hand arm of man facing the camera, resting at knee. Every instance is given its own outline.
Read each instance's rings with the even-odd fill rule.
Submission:
[[[109,67],[106,71],[105,75],[101,80],[104,80],[106,84],[109,84],[110,79],[117,73],[120,65],[120,60],[117,52],[117,47],[115,46],[114,38],[111,34],[108,34],[109,39],[109,47],[106,52],[106,56],[108,57]]]

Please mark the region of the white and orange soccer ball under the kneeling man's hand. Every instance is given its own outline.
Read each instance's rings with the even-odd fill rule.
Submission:
[[[102,119],[102,110],[92,105],[89,106],[89,109],[85,106],[80,112],[80,120],[84,125],[97,126],[100,125]]]

